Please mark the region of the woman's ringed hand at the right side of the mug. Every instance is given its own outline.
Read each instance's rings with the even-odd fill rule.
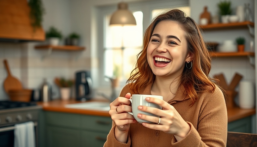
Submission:
[[[184,119],[180,116],[178,111],[176,111],[176,109],[172,105],[158,98],[145,98],[145,100],[161,106],[162,110],[153,107],[139,106],[138,109],[141,111],[149,112],[160,116],[154,117],[138,114],[137,117],[139,117],[140,119],[157,123],[142,123],[142,125],[150,129],[160,130],[169,134],[173,134],[177,141],[183,139],[188,134],[188,132],[190,131],[189,124],[184,121]]]

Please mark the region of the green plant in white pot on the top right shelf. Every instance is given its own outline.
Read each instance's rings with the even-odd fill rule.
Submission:
[[[219,14],[221,15],[221,22],[228,23],[229,15],[232,13],[230,1],[220,1],[218,3]]]

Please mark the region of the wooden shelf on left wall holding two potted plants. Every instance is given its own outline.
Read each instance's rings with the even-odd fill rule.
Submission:
[[[63,51],[81,51],[85,47],[73,46],[73,45],[62,45],[62,46],[53,46],[53,45],[40,45],[36,46],[35,49],[52,49],[52,50],[63,50]]]

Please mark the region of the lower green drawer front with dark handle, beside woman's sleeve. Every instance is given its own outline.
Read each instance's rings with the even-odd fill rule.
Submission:
[[[108,133],[81,131],[81,147],[103,147]]]

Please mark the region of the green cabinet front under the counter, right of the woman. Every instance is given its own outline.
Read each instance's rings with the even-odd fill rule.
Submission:
[[[241,132],[241,133],[252,133],[252,116],[245,117],[236,121],[229,122],[227,124],[227,131]]]

